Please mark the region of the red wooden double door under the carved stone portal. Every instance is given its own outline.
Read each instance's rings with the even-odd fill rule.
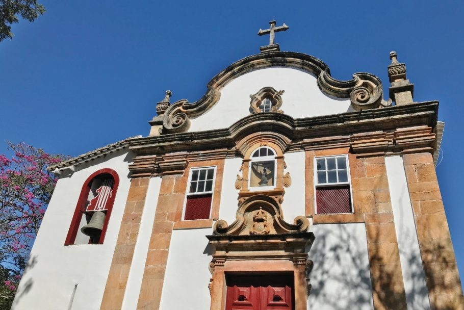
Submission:
[[[293,275],[227,275],[226,310],[293,310]]]

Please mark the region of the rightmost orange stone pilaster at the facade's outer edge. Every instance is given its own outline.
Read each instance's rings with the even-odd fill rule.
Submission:
[[[403,161],[432,309],[464,309],[432,154],[405,154]]]

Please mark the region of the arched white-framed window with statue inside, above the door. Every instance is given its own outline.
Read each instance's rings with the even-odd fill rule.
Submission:
[[[249,169],[250,190],[269,190],[275,187],[275,151],[267,146],[252,152]]]

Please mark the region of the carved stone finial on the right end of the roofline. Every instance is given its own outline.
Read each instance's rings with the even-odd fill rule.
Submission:
[[[390,83],[390,99],[395,101],[395,105],[407,105],[413,103],[414,84],[406,79],[406,65],[398,62],[396,51],[390,52],[392,63],[388,66]]]

